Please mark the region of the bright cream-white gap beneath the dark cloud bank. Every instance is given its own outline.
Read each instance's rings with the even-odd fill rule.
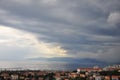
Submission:
[[[66,53],[58,44],[38,41],[31,33],[0,25],[0,59],[65,57]]]

